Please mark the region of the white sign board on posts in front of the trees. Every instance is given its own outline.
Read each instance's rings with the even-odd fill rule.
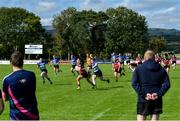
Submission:
[[[43,45],[25,45],[25,54],[43,54]]]

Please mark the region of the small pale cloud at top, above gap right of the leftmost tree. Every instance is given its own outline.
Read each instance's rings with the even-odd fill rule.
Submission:
[[[37,11],[39,12],[48,12],[55,9],[56,3],[55,2],[48,2],[48,1],[40,1],[37,6]]]

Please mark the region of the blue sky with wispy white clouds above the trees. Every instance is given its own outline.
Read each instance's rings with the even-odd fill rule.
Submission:
[[[41,17],[42,25],[68,7],[106,11],[125,6],[146,17],[149,28],[180,30],[180,0],[0,0],[0,7],[21,7]]]

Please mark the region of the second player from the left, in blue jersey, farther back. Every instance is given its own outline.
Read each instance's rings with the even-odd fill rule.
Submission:
[[[54,72],[56,75],[59,73],[59,71],[62,71],[59,69],[60,59],[56,58],[55,55],[53,55],[53,59],[52,59],[51,63],[54,67]]]

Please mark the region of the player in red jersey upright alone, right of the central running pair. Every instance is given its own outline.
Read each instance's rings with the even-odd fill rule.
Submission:
[[[121,71],[121,63],[119,62],[119,59],[116,59],[113,63],[113,69],[114,69],[114,77],[116,82],[118,81],[118,75]]]

